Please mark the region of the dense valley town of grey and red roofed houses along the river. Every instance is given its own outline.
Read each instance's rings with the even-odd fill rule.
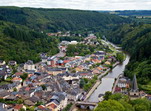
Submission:
[[[94,34],[89,34],[81,42],[62,41],[58,44],[60,52],[56,55],[40,53],[41,61],[38,63],[28,60],[17,64],[14,60],[0,60],[0,111],[60,111],[76,101],[86,100],[97,81],[100,82],[101,77],[120,64],[117,55],[121,52],[107,46],[103,40],[101,42]],[[84,56],[79,56],[78,52],[73,54],[75,56],[68,56],[68,47],[78,44],[104,45],[111,51],[97,49]],[[130,79],[120,76],[114,84],[114,93],[128,95]],[[133,84],[133,89],[138,91],[136,76]],[[137,92],[136,96],[139,95]],[[144,92],[142,95],[146,96]],[[100,101],[103,96],[99,95]]]

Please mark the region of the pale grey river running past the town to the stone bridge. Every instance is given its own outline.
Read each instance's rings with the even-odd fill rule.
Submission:
[[[99,102],[98,100],[99,94],[105,94],[106,91],[112,91],[115,78],[117,78],[120,74],[123,73],[123,71],[125,70],[125,66],[128,64],[129,60],[130,56],[126,54],[126,59],[123,61],[123,63],[114,67],[112,71],[108,73],[108,75],[102,78],[102,83],[92,93],[88,101]]]

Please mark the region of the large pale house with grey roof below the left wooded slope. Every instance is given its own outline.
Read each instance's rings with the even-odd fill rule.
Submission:
[[[36,68],[35,68],[35,65],[34,65],[33,61],[28,60],[28,61],[24,64],[24,70],[25,70],[25,71],[35,72],[35,71],[36,71]]]

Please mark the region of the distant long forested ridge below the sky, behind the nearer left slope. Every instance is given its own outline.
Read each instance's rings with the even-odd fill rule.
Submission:
[[[110,24],[130,22],[115,15],[68,9],[34,9],[0,7],[0,20],[26,25],[35,30],[79,30],[93,27],[107,28]]]

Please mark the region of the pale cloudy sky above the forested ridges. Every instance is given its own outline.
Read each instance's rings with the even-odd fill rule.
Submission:
[[[151,10],[151,0],[0,0],[0,6],[82,10]]]

